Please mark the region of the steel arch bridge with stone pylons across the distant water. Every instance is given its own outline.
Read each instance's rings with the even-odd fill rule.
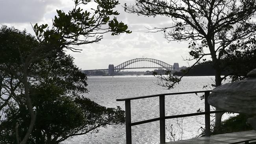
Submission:
[[[143,58],[137,58],[137,59],[131,59],[131,60],[125,61],[124,63],[121,63],[120,65],[117,65],[117,66],[109,65],[108,69],[83,70],[83,72],[87,75],[90,75],[91,73],[101,71],[101,72],[108,73],[109,76],[114,76],[121,70],[137,69],[137,68],[158,68],[158,69],[175,71],[175,70],[178,70],[179,66],[178,66],[178,63],[174,63],[174,65],[169,65],[168,63],[165,63],[157,59],[150,59],[150,58],[143,57]]]

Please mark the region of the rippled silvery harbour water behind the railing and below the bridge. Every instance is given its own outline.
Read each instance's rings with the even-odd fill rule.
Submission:
[[[131,98],[152,94],[188,92],[203,89],[203,86],[213,83],[213,76],[184,77],[179,85],[172,90],[156,85],[154,76],[113,76],[113,77],[88,77],[89,93],[87,98],[106,107],[119,105],[124,110],[124,102],[116,99]],[[204,110],[204,100],[195,94],[167,96],[165,98],[165,115],[195,113],[198,109]],[[132,122],[159,117],[159,98],[146,98],[131,101]],[[177,122],[182,124],[183,135]],[[173,124],[176,140],[187,139],[199,135],[204,127],[204,116],[192,116],[183,119],[169,119],[165,124],[167,128]],[[181,125],[180,125],[181,126]],[[170,131],[166,131],[167,138]],[[150,122],[132,126],[133,144],[159,144],[159,122]],[[167,139],[166,141],[170,141]],[[93,135],[80,135],[63,142],[64,144],[125,144],[125,126],[101,128],[99,133]]]

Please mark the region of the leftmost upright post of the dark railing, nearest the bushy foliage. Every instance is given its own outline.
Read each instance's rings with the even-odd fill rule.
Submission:
[[[132,144],[131,100],[125,101],[126,144]]]

